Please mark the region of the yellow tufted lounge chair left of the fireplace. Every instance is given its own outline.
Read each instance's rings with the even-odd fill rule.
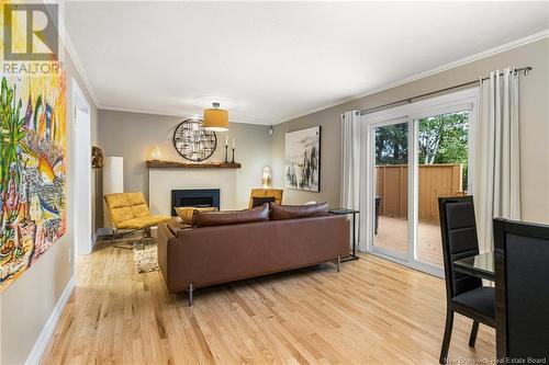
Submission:
[[[116,193],[104,196],[107,207],[111,214],[115,239],[119,229],[131,231],[143,230],[149,232],[150,227],[171,219],[169,216],[152,216],[143,193]]]

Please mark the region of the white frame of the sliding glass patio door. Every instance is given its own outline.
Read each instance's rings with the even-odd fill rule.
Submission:
[[[406,105],[395,106],[366,115],[368,126],[366,148],[366,181],[367,181],[367,252],[393,261],[405,266],[423,271],[425,273],[444,277],[442,267],[438,267],[417,260],[417,223],[418,223],[418,159],[417,159],[417,119],[426,116],[446,114],[469,110],[469,171],[468,190],[472,191],[472,176],[475,170],[474,136],[475,124],[479,113],[479,88],[467,89],[437,98],[422,100]],[[407,166],[407,254],[395,255],[385,252],[385,250],[376,248],[373,244],[373,221],[376,219],[376,183],[373,172],[376,167],[376,128],[392,124],[407,123],[408,126],[408,166]]]

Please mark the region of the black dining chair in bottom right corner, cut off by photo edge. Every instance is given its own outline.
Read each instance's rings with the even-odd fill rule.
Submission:
[[[494,219],[495,338],[502,364],[549,361],[549,226]]]

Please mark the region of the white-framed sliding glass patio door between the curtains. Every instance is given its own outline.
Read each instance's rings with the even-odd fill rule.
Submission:
[[[466,195],[474,161],[474,91],[379,112],[369,121],[368,249],[442,274],[438,197]]]

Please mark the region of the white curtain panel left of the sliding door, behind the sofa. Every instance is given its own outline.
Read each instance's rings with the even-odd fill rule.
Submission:
[[[366,251],[366,145],[367,125],[359,111],[341,114],[340,204],[359,210],[357,250]]]

